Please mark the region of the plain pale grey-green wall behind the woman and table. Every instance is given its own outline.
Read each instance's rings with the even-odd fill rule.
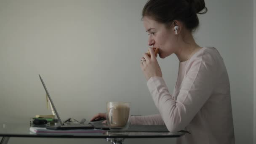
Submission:
[[[51,114],[38,74],[63,120],[89,120],[105,112],[107,101],[131,102],[133,115],[157,114],[140,68],[148,48],[141,21],[146,1],[0,0],[0,122],[29,123],[35,115]],[[231,84],[236,143],[252,144],[256,137],[256,29],[252,30],[256,0],[205,3],[208,13],[199,16],[194,37],[199,45],[216,47],[221,53]],[[158,61],[172,91],[179,61],[175,55]],[[174,141],[125,139],[125,144]],[[12,138],[9,144],[35,142],[109,143]]]

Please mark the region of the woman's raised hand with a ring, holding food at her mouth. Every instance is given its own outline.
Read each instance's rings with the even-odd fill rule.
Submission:
[[[150,77],[162,77],[162,71],[160,66],[157,62],[157,58],[155,57],[155,52],[152,48],[149,48],[149,52],[151,57],[144,53],[143,57],[141,58],[141,69],[146,77],[147,80]]]

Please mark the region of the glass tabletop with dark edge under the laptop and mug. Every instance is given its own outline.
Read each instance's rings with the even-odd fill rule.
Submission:
[[[161,125],[130,125],[127,131],[101,131],[98,133],[32,133],[29,123],[0,123],[0,144],[7,144],[11,137],[36,138],[102,138],[112,144],[123,144],[128,138],[177,138],[185,132],[169,132]]]

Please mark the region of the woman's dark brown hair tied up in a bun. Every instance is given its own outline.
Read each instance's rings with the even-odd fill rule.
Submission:
[[[199,25],[197,13],[205,14],[207,11],[204,0],[148,0],[143,8],[142,18],[149,16],[166,25],[178,20],[192,31]]]

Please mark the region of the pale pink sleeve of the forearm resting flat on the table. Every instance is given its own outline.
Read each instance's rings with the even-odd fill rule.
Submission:
[[[131,116],[131,125],[164,125],[160,114],[147,116]]]

